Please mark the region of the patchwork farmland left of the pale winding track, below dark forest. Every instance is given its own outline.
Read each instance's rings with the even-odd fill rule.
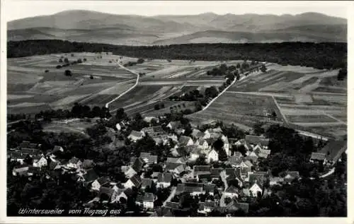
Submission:
[[[57,65],[64,64],[59,63],[59,59],[65,58],[69,62],[77,59],[86,61],[56,69]],[[67,109],[74,102],[105,105],[105,100],[112,100],[130,88],[136,78],[135,74],[113,62],[118,59],[117,55],[95,53],[73,53],[73,56],[71,53],[47,54],[8,59],[8,112],[37,113],[40,110]],[[72,76],[65,76],[65,70],[72,71]],[[33,103],[37,103],[37,106],[30,105]]]

